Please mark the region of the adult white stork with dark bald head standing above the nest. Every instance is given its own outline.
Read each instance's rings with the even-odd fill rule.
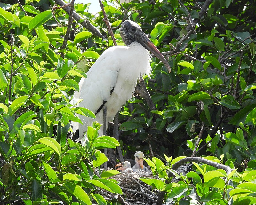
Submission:
[[[104,51],[87,72],[87,78],[80,80],[79,92],[74,92],[73,104],[84,99],[77,106],[91,110],[96,116],[96,119],[91,119],[78,115],[83,124],[71,122],[73,132],[79,130],[80,139],[93,121],[103,124],[103,106],[107,110],[106,122],[113,121],[116,113],[132,98],[138,78],[142,75],[150,76],[148,51],[160,59],[171,72],[164,56],[137,23],[125,20],[121,25],[120,35],[127,46],[113,46]],[[102,134],[102,128],[100,130],[99,134]]]

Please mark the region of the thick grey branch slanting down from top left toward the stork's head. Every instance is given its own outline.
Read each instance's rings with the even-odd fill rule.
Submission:
[[[54,0],[54,1],[55,1],[57,4],[59,4],[60,6],[67,5],[67,4],[65,4],[65,2],[62,1],[62,0]],[[67,6],[67,7],[65,7],[65,8],[63,8],[63,9],[64,9],[67,13],[70,13],[70,7],[69,7],[69,6]],[[84,20],[84,21],[81,22],[80,24],[81,24],[82,26],[84,26],[84,28],[86,28],[86,29],[88,29],[89,31],[91,31],[93,35],[99,36],[100,38],[102,38],[102,39],[104,39],[104,40],[107,40],[107,39],[105,38],[105,36],[100,33],[100,31],[98,30],[98,28],[96,28],[95,26],[93,26],[93,25],[90,23],[90,21],[88,21],[88,20],[82,18],[82,17],[81,17],[78,13],[76,13],[76,12],[73,12],[73,17],[74,17],[74,19],[75,19],[77,22],[80,22],[80,21]]]

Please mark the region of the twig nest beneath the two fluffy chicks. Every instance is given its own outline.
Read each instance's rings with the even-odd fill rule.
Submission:
[[[152,191],[152,187],[150,185],[145,184],[139,178],[147,177],[147,178],[155,178],[152,172],[126,172],[123,171],[118,175],[111,177],[119,182],[119,186],[123,191],[123,196],[118,195],[118,201],[121,204],[125,205],[139,205],[139,204],[153,204],[157,200],[157,195]],[[117,198],[116,195],[110,193],[106,190],[100,190],[102,196],[106,200],[112,200],[113,198]]]

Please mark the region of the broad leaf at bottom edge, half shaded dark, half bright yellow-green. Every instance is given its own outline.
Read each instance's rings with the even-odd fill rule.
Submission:
[[[81,186],[76,185],[72,182],[65,182],[64,187],[68,190],[70,194],[76,197],[76,199],[83,205],[91,205],[92,202],[88,194],[82,189]]]

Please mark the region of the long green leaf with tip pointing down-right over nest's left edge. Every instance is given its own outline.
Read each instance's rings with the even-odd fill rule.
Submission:
[[[92,183],[93,185],[105,189],[109,192],[123,194],[121,188],[115,182],[108,179],[89,179],[87,182]]]

